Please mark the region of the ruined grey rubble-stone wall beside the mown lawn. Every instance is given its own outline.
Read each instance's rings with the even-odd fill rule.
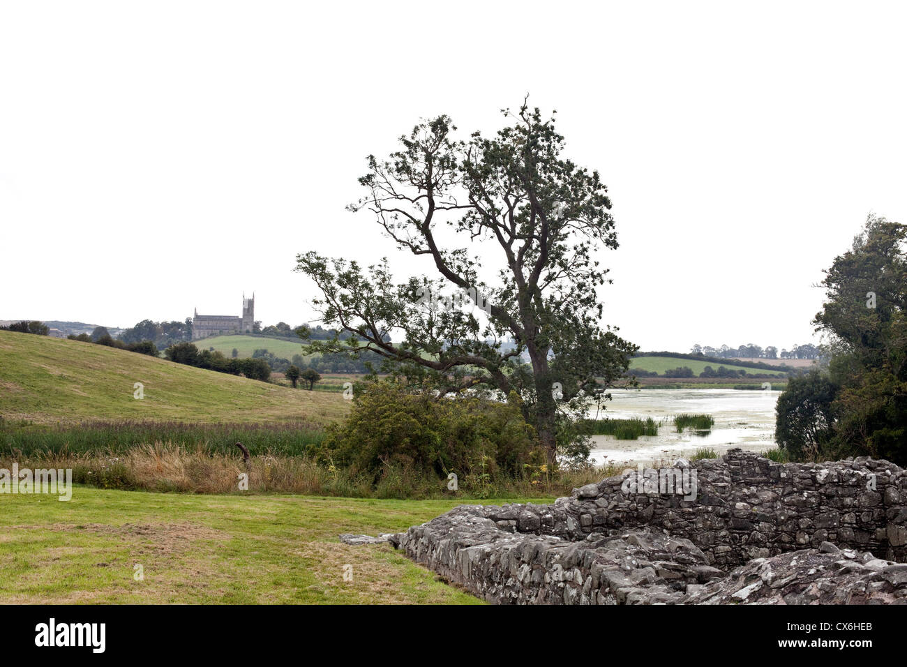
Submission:
[[[874,557],[907,561],[907,471],[899,466],[777,464],[732,450],[689,472],[695,497],[628,492],[624,477],[610,477],[553,505],[462,505],[399,542],[416,562],[499,603],[683,602],[736,565],[763,567],[762,559],[802,549],[812,550],[799,559],[814,563],[809,576],[841,567],[853,580],[824,594],[907,601],[907,565]],[[766,586],[795,587],[798,559],[788,560],[785,576],[763,567]]]

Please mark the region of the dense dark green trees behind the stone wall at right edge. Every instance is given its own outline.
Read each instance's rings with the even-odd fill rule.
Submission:
[[[827,364],[778,397],[775,439],[790,456],[907,464],[907,226],[869,216],[824,272],[814,319]]]

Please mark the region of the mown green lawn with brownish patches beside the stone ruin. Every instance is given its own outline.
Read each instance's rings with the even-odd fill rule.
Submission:
[[[0,495],[0,602],[480,603],[390,545],[337,540],[400,532],[463,502],[85,486],[68,503]]]

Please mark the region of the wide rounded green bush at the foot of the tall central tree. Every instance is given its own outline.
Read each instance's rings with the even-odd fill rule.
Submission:
[[[537,446],[514,402],[412,394],[385,381],[356,397],[346,421],[328,430],[321,456],[375,483],[388,466],[493,478],[521,476]]]

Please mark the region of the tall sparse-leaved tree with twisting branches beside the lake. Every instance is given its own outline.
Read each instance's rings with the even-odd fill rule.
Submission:
[[[525,103],[504,115],[492,138],[457,140],[439,116],[388,159],[369,156],[366,196],[350,209],[371,211],[437,277],[395,283],[387,260],[364,270],[298,255],[321,292],[321,321],[338,329],[307,349],[373,350],[442,394],[488,387],[519,401],[553,458],[559,410],[607,397],[637,348],[600,324],[598,289],[610,279],[599,253],[618,241],[599,173],[561,156],[553,118]]]

